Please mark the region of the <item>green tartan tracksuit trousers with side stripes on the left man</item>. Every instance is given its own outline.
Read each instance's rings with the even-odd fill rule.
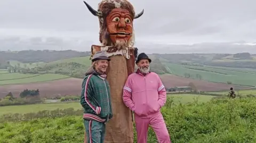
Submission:
[[[94,121],[94,120],[84,120],[84,127],[87,137],[87,143],[103,143],[105,138],[105,123]]]

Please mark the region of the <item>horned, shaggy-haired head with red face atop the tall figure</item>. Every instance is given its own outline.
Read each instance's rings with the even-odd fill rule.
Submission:
[[[102,46],[115,46],[118,49],[133,47],[133,20],[138,19],[144,12],[135,14],[134,7],[127,0],[102,0],[95,11],[84,1],[89,11],[99,18],[100,43]]]

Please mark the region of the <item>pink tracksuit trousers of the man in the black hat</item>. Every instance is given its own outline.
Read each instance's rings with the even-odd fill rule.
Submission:
[[[134,114],[134,119],[137,131],[137,143],[147,143],[149,125],[156,133],[159,143],[171,143],[169,132],[166,128],[161,112],[157,112],[147,118]]]

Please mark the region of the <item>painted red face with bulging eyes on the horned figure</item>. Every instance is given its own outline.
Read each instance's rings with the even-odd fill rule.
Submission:
[[[107,16],[107,29],[111,41],[127,42],[132,37],[132,17],[129,11],[113,9]]]

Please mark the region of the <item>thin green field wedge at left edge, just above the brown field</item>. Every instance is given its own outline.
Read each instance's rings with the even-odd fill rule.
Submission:
[[[22,74],[22,73],[6,73],[0,74],[0,81],[1,80],[13,80],[13,79],[20,79],[20,78],[29,78],[34,77],[39,74]]]

